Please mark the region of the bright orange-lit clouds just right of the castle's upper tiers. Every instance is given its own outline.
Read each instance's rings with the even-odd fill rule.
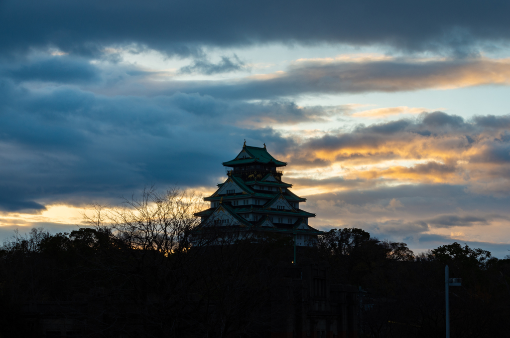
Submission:
[[[418,120],[310,138],[289,159],[296,173],[317,168],[321,174],[316,179],[300,183],[316,184],[321,191],[425,183],[463,184],[484,194],[508,194],[510,143],[505,141],[504,120],[500,126],[476,119],[466,122],[442,112],[424,113]]]

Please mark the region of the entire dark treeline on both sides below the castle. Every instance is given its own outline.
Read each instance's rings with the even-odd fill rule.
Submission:
[[[123,208],[95,205],[87,228],[16,233],[0,248],[1,336],[37,330],[27,325],[31,303],[67,306],[90,336],[227,337],[274,329],[292,298],[284,285],[293,276],[292,239],[197,239],[197,200],[188,191],[151,189]],[[462,278],[450,289],[451,337],[510,332],[508,258],[458,243],[415,255],[404,243],[355,228],[331,230],[316,247],[299,249],[298,264],[304,257],[327,261],[329,283],[360,287],[360,336],[444,336],[446,264],[450,277]]]

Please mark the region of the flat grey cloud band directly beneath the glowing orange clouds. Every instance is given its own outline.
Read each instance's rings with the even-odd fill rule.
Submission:
[[[320,181],[319,181],[320,182]],[[293,183],[291,181],[291,183]],[[343,182],[338,187],[344,188]],[[297,184],[296,184],[297,186]],[[340,222],[363,220],[370,222],[371,219],[382,217],[388,219],[400,219],[401,222],[423,222],[425,224],[438,225],[446,223],[447,219],[441,219],[443,215],[456,215],[460,222],[464,216],[492,221],[508,218],[508,203],[510,197],[494,197],[479,195],[471,192],[464,185],[449,184],[401,184],[397,186],[374,186],[365,185],[362,188],[354,186],[354,189],[346,189],[335,192],[327,192],[308,198],[303,208],[316,212],[319,218],[331,218],[335,214]],[[393,211],[391,201],[395,199],[401,203],[401,207]],[[327,203],[325,203],[327,202]],[[326,208],[322,208],[326,205]],[[371,209],[378,206],[380,210]],[[389,208],[389,209],[388,209]],[[391,213],[388,213],[389,210]],[[465,210],[460,216],[452,210]],[[450,220],[451,222],[454,219]],[[465,221],[469,221],[466,219]],[[460,224],[460,223],[459,223]],[[405,227],[401,227],[401,233],[405,233]]]

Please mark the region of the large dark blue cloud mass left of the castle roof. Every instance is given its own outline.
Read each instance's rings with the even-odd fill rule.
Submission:
[[[250,104],[184,93],[108,97],[6,80],[0,98],[0,210],[11,211],[115,202],[151,183],[214,186],[224,174],[221,162],[237,154],[244,138],[282,150],[292,143],[271,128],[252,127],[250,118],[320,114],[318,107],[308,111],[293,102]]]

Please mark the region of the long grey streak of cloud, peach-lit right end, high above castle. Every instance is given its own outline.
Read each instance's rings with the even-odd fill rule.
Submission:
[[[206,67],[207,69],[207,67]],[[115,94],[171,94],[176,91],[236,100],[275,100],[303,94],[399,92],[510,84],[510,59],[391,58],[384,60],[310,60],[272,74],[216,81],[143,82],[108,88]],[[409,108],[416,113],[416,109]],[[394,114],[399,108],[367,114]],[[404,108],[400,108],[404,110]]]

